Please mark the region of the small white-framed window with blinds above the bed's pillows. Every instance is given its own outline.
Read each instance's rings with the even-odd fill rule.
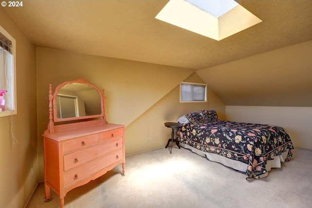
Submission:
[[[181,82],[180,102],[207,102],[207,84]]]

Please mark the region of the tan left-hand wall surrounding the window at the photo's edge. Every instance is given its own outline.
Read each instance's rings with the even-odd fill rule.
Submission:
[[[36,48],[0,7],[0,25],[16,40],[17,115],[0,117],[0,207],[21,208],[38,182]],[[34,173],[31,175],[31,167]]]

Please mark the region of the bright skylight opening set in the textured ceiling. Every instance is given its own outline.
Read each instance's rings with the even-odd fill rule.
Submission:
[[[234,0],[170,0],[155,18],[216,40],[262,21]]]

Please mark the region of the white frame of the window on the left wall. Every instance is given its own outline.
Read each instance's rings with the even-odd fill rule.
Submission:
[[[8,82],[13,85],[13,96],[11,96],[11,103],[12,103],[12,110],[6,110],[0,112],[0,117],[9,116],[9,115],[15,115],[17,114],[17,93],[16,93],[16,40],[13,38],[3,27],[0,26],[0,33],[5,36],[5,38],[9,39],[12,42],[12,55],[13,55],[13,76],[11,80],[8,80]],[[1,70],[1,69],[0,69]],[[12,92],[7,92],[8,93]],[[5,99],[7,99],[7,96],[5,96]],[[6,101],[7,102],[7,101]]]

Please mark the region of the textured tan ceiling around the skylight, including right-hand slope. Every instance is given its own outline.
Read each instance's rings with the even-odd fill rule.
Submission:
[[[196,69],[225,105],[312,107],[312,0],[236,1],[262,22],[220,41],[155,19],[168,0],[5,9],[35,46]]]

